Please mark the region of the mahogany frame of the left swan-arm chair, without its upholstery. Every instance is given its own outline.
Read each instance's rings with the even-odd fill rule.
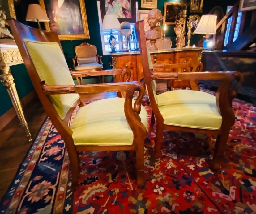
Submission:
[[[72,190],[75,190],[79,178],[79,151],[113,151],[113,150],[136,150],[136,172],[137,172],[137,185],[142,187],[144,185],[144,139],[147,136],[147,131],[144,125],[140,122],[140,107],[144,95],[144,87],[139,82],[120,82],[120,83],[101,83],[91,85],[46,85],[41,82],[36,68],[32,62],[31,56],[28,53],[24,39],[30,39],[41,42],[58,42],[61,50],[61,44],[58,34],[50,31],[39,30],[36,28],[28,27],[19,23],[15,19],[9,19],[8,23],[11,27],[15,42],[19,48],[24,64],[27,68],[28,74],[32,80],[36,93],[41,100],[41,103],[49,116],[49,119],[62,136],[68,151],[70,165],[72,170]],[[63,50],[62,50],[63,53]],[[126,69],[116,69],[106,71],[81,71],[80,75],[85,76],[93,75],[120,75],[126,76],[129,71]],[[73,73],[71,73],[73,75]],[[75,72],[75,75],[78,75]],[[73,76],[75,76],[73,75]],[[108,91],[126,91],[124,112],[126,120],[134,133],[134,140],[132,145],[126,146],[76,146],[72,139],[72,130],[68,126],[69,119],[72,112],[77,106],[83,106],[82,100],[78,100],[67,112],[66,117],[62,120],[53,104],[51,103],[50,94],[67,94],[67,93],[92,93],[92,92],[108,92]],[[132,98],[135,91],[139,91],[138,98],[132,106]]]

